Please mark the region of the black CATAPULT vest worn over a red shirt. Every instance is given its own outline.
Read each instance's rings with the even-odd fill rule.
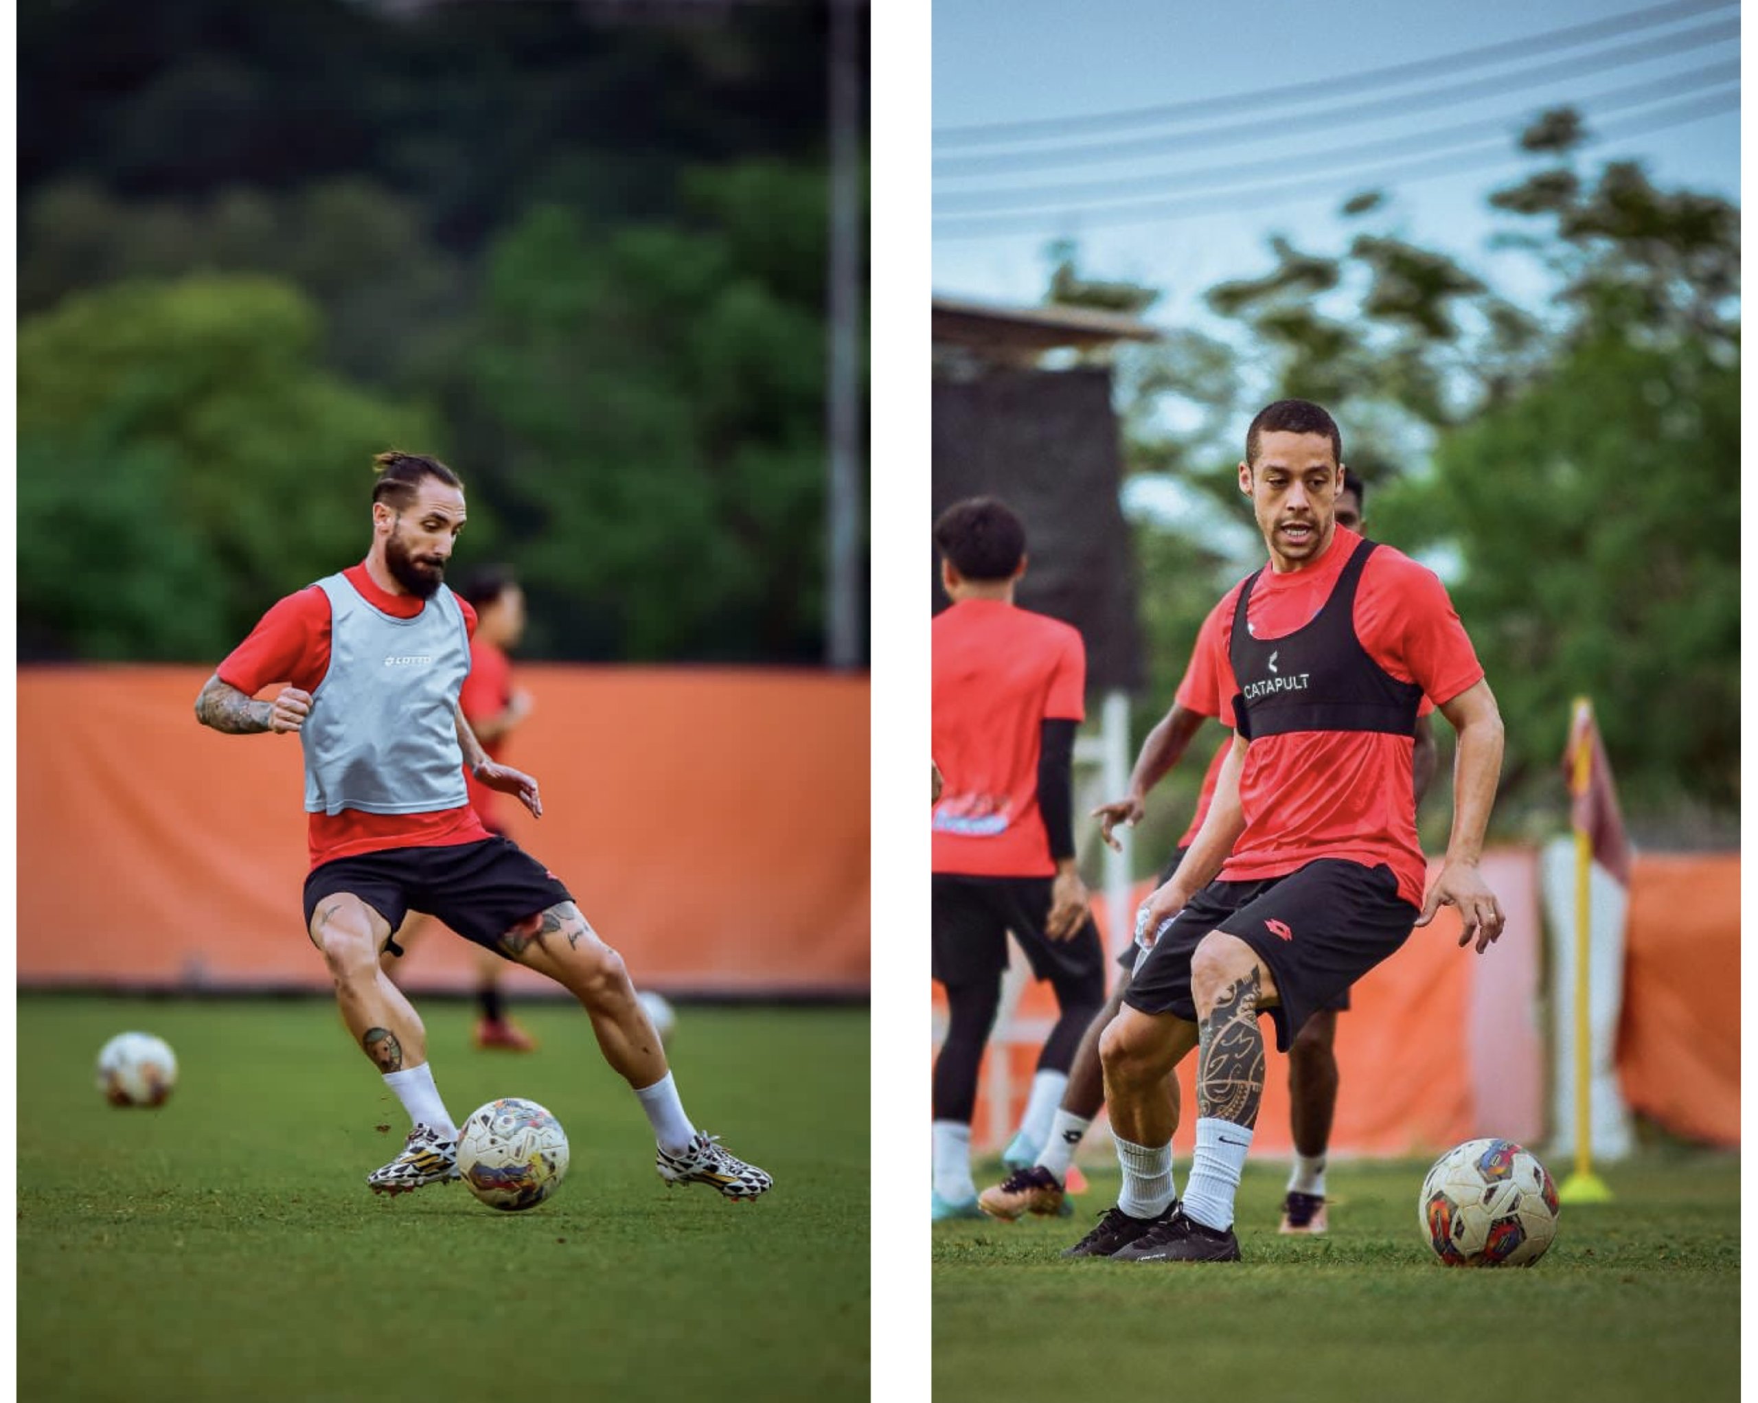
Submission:
[[[1355,636],[1355,589],[1377,549],[1357,545],[1318,614],[1283,638],[1259,642],[1245,626],[1252,585],[1264,571],[1239,587],[1227,658],[1239,684],[1234,730],[1246,740],[1289,731],[1417,733],[1422,687],[1385,672]]]

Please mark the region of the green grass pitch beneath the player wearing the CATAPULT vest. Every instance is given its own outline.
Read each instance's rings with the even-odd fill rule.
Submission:
[[[1431,1257],[1415,1213],[1426,1162],[1333,1166],[1326,1238],[1278,1236],[1287,1166],[1248,1166],[1236,1264],[1062,1261],[1116,1201],[1115,1171],[1090,1176],[1072,1218],[937,1224],[933,1396],[1737,1398],[1737,1157],[1656,1152],[1598,1167],[1616,1203],[1565,1206],[1528,1269]],[[1180,1160],[1180,1185],[1187,1171]]]

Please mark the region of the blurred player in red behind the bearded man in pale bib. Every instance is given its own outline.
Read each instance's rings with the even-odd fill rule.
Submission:
[[[510,570],[490,566],[466,577],[459,596],[476,610],[476,631],[469,638],[469,677],[464,679],[457,703],[489,760],[505,760],[508,737],[531,714],[531,693],[513,686],[513,665],[506,656],[510,649],[519,647],[526,631],[526,592]],[[469,770],[464,772],[464,784],[482,826],[508,837],[506,800]],[[429,920],[424,914],[411,912],[392,946],[411,949],[415,937],[427,927]],[[385,951],[383,963],[396,979],[397,956],[390,949]],[[492,951],[480,951],[476,960],[480,1016],[475,1041],[485,1050],[531,1051],[536,1048],[536,1039],[506,1016],[506,1000],[501,993],[505,970],[505,960]]]

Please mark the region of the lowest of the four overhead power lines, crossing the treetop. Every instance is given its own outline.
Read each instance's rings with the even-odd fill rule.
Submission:
[[[1730,88],[1723,93],[1711,93],[1705,97],[1693,97],[1684,102],[1674,104],[1672,107],[1656,109],[1642,118],[1631,118],[1626,121],[1605,123],[1603,128],[1591,134],[1582,146],[1602,146],[1609,141],[1621,141],[1626,137],[1649,135],[1651,132],[1660,132],[1668,127],[1679,127],[1688,121],[1704,121],[1705,118],[1721,116],[1723,113],[1737,113],[1740,107],[1740,95],[1737,88]],[[1442,176],[1457,176],[1468,171],[1489,171],[1503,165],[1529,164],[1531,156],[1519,151],[1482,151],[1466,156],[1449,156],[1442,162],[1415,160],[1401,162],[1396,165],[1387,165],[1377,171],[1364,171],[1359,176],[1340,179],[1338,176],[1324,176],[1317,179],[1299,179],[1269,183],[1259,186],[1248,186],[1241,190],[1232,190],[1227,193],[1204,193],[1204,195],[1185,195],[1169,200],[1139,200],[1132,204],[1116,204],[1102,211],[1072,211],[1065,207],[1055,209],[1037,209],[1021,214],[979,214],[979,216],[935,216],[933,220],[933,237],[935,239],[976,239],[976,237],[995,237],[999,234],[1030,234],[1034,230],[1050,232],[1051,225],[1058,220],[1067,222],[1071,214],[1079,214],[1078,227],[1081,230],[1092,229],[1120,229],[1127,225],[1144,225],[1144,223],[1176,223],[1180,218],[1192,214],[1213,214],[1218,204],[1225,206],[1248,206],[1252,209],[1275,207],[1283,204],[1294,204],[1311,197],[1338,197],[1347,190],[1371,190],[1378,185],[1392,183],[1410,183],[1436,179]],[[1058,230],[1060,232],[1060,230]]]

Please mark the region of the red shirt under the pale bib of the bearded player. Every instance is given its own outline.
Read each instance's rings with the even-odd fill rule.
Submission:
[[[360,591],[362,600],[392,617],[413,619],[425,605],[425,600],[415,594],[387,594],[373,584],[364,563],[348,566],[343,575]],[[464,600],[459,600],[457,607],[464,612],[464,628],[475,635],[476,610]],[[301,691],[315,693],[329,672],[329,596],[313,584],[276,601],[216,672],[222,682],[246,696],[255,696],[274,682],[288,682]],[[450,847],[489,837],[489,830],[468,803],[429,814],[364,814],[359,809],[343,809],[334,816],[308,814],[308,819],[306,844],[313,867],[387,847]]]

